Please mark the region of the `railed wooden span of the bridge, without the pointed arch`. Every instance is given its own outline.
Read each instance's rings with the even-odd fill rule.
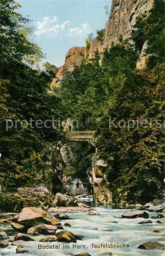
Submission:
[[[96,131],[70,131],[68,139],[70,141],[95,141]]]

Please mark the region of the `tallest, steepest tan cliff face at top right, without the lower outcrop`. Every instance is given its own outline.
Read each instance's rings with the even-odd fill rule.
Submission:
[[[153,0],[113,0],[109,20],[105,26],[103,41],[98,38],[91,43],[89,57],[97,50],[102,52],[111,42],[128,39],[136,23],[136,18],[147,13],[153,6]]]

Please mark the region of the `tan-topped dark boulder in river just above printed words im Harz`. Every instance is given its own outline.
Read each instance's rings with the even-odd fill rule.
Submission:
[[[72,232],[68,230],[62,230],[59,233],[56,234],[57,241],[62,243],[76,243],[77,240],[82,240],[80,236],[77,236],[76,234],[73,234]]]

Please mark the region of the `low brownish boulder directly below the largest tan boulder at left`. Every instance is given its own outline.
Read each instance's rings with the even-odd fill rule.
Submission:
[[[56,226],[41,224],[28,229],[28,234],[37,236],[38,234],[55,234],[57,230]]]

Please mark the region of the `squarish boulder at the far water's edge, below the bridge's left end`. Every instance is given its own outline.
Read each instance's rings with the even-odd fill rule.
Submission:
[[[52,207],[55,206],[78,206],[78,203],[73,197],[57,193],[52,203]]]

